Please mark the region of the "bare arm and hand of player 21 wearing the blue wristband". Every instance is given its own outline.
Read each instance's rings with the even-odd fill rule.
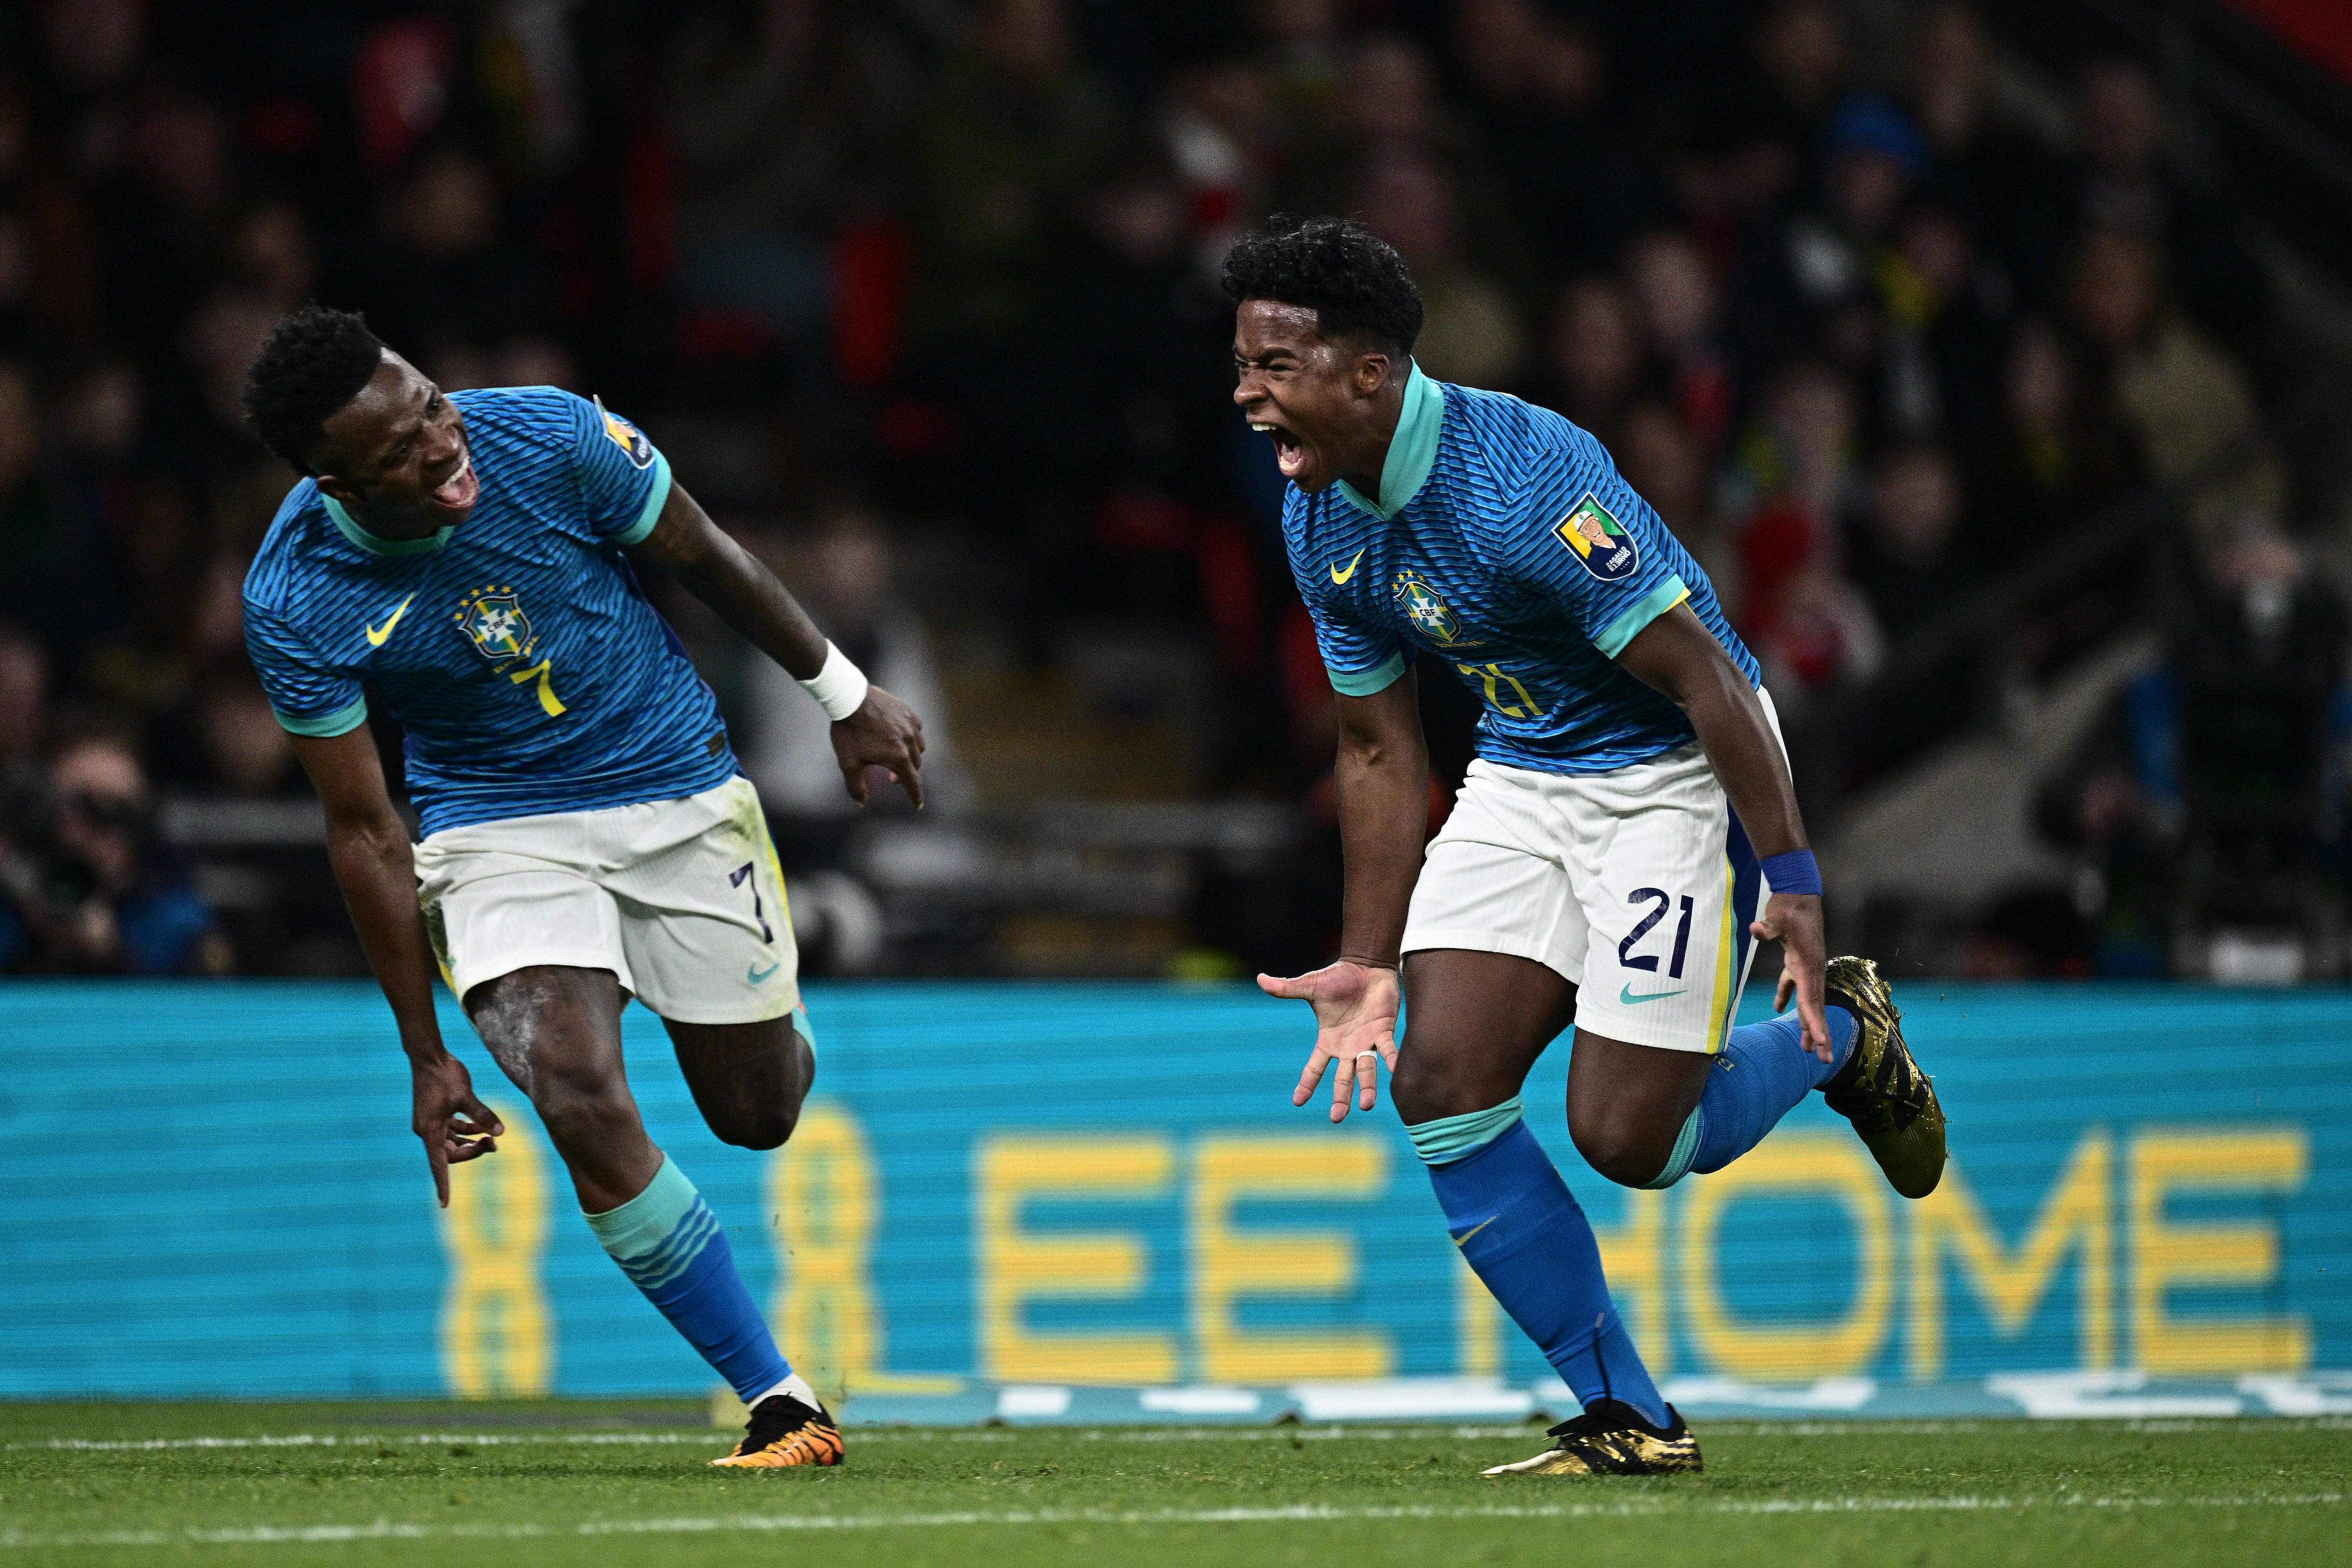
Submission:
[[[1797,785],[1788,776],[1788,759],[1764,717],[1764,703],[1689,604],[1677,604],[1642,628],[1618,654],[1618,663],[1689,715],[1698,745],[1705,748],[1708,764],[1722,780],[1757,858],[1809,849],[1804,818],[1797,813]],[[1820,1011],[1828,964],[1820,896],[1773,893],[1764,919],[1750,931],[1762,940],[1778,938],[1788,954],[1773,1011],[1795,997],[1806,1048],[1830,1060],[1830,1020]]]

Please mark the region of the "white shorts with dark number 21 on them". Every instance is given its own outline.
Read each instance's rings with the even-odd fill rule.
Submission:
[[[1414,884],[1404,952],[1534,959],[1576,985],[1576,1027],[1715,1053],[1762,907],[1755,851],[1698,745],[1611,773],[1472,762]]]

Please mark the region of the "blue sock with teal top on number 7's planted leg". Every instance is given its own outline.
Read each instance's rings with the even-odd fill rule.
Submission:
[[[793,1375],[736,1274],[727,1232],[675,1159],[663,1157],[630,1201],[588,1215],[588,1229],[736,1399],[750,1403]]]

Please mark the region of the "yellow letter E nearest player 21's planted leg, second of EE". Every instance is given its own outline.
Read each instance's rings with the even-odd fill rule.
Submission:
[[[1371,1133],[1202,1138],[1192,1152],[1192,1342],[1211,1382],[1388,1378],[1397,1347],[1378,1328],[1242,1328],[1247,1295],[1343,1295],[1355,1239],[1327,1229],[1242,1229],[1235,1204],[1369,1201],[1388,1190],[1388,1145]]]

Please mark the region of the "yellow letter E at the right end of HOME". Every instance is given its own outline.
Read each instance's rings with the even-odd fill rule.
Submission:
[[[2176,1192],[2296,1192],[2310,1171],[2300,1126],[2140,1133],[2131,1140],[2131,1349],[2150,1373],[2300,1373],[2312,1363],[2303,1316],[2178,1319],[2176,1286],[2267,1286],[2279,1232],[2267,1220],[2169,1225]]]

